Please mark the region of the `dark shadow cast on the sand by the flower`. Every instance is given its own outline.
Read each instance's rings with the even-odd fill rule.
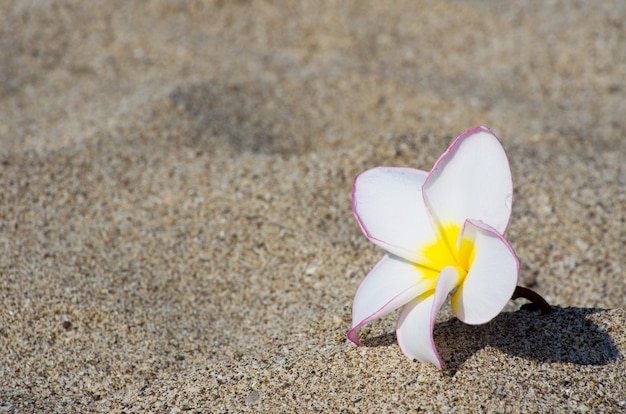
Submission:
[[[490,346],[509,355],[541,362],[605,365],[619,358],[613,339],[588,316],[597,308],[560,308],[543,315],[519,310],[502,313],[484,325],[456,318],[435,325],[434,338],[446,371],[454,374],[477,351]],[[395,334],[363,341],[366,346],[395,343]]]

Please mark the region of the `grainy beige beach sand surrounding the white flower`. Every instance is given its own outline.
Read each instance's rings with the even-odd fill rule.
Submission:
[[[556,312],[355,347],[353,177],[479,124]],[[624,412],[625,136],[622,0],[0,0],[0,411]]]

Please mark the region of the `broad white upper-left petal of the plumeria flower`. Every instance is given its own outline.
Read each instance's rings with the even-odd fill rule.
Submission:
[[[379,167],[354,179],[352,211],[375,244],[406,260],[423,260],[419,247],[435,240],[422,197],[428,174],[413,168]]]

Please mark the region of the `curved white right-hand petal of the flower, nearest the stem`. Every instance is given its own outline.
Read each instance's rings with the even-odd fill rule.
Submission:
[[[474,260],[452,295],[452,310],[461,321],[476,325],[493,319],[511,299],[519,261],[504,237],[485,223],[467,220],[462,237],[474,244]]]

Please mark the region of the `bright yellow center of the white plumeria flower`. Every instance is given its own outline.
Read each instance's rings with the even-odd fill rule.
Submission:
[[[423,250],[426,262],[416,266],[424,273],[427,279],[432,280],[432,288],[435,288],[439,273],[446,267],[453,266],[459,274],[459,285],[463,283],[474,261],[474,243],[463,239],[457,248],[457,240],[461,233],[461,227],[457,224],[440,226],[439,235],[434,242],[428,244]]]

